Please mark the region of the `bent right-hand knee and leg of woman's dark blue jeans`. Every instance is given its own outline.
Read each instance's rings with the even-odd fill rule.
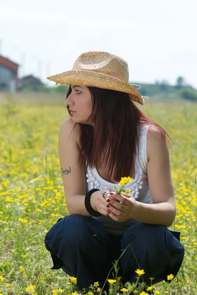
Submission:
[[[172,232],[164,225],[136,222],[127,229],[121,239],[122,248],[127,248],[121,258],[123,281],[135,280],[134,270],[137,266],[145,270],[143,278],[146,282],[149,277],[154,277],[154,283],[158,283],[162,279],[167,281],[169,273],[175,276],[184,257],[179,236],[180,233]],[[133,273],[131,277],[130,273]]]

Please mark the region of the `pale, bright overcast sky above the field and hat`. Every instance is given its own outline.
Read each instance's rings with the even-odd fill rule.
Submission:
[[[182,76],[197,89],[196,0],[0,0],[0,55],[19,77],[71,70],[88,51],[125,59],[130,83]]]

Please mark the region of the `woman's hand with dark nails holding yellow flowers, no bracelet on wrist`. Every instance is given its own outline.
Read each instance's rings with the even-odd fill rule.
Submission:
[[[137,206],[135,199],[126,193],[121,195],[116,194],[116,192],[111,192],[106,196],[106,202],[108,202],[109,207],[107,207],[107,214],[115,221],[122,222],[132,217],[132,212]],[[119,203],[119,202],[122,202]]]

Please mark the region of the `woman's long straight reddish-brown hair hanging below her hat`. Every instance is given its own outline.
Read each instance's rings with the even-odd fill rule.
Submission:
[[[92,95],[93,110],[90,118],[93,125],[80,125],[82,160],[90,167],[97,167],[102,159],[110,179],[118,182],[121,177],[135,172],[135,157],[138,156],[138,127],[152,124],[165,139],[168,134],[152,119],[146,117],[131,101],[129,94],[109,89],[88,87]],[[66,98],[71,93],[71,87]],[[69,109],[67,107],[69,112]],[[70,114],[70,113],[69,113]]]

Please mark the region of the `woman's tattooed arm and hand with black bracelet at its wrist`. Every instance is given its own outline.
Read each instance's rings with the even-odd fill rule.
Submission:
[[[62,179],[65,189],[66,206],[69,214],[80,214],[91,217],[86,210],[86,179],[84,163],[78,164],[80,148],[78,145],[79,126],[71,118],[67,118],[60,127],[59,132],[59,159]],[[73,129],[73,130],[72,130]],[[71,132],[72,131],[72,132]],[[106,190],[106,189],[105,189]],[[107,202],[102,197],[100,190],[91,195],[91,206],[95,211],[107,215]]]

